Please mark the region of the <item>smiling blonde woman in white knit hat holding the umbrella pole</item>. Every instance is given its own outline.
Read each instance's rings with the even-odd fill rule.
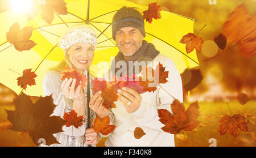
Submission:
[[[86,106],[88,97],[92,96],[91,84],[89,84],[89,89],[87,85],[81,88],[81,83],[75,87],[75,78],[66,78],[63,81],[60,74],[65,67],[72,67],[86,75],[90,83],[93,76],[87,72],[94,57],[96,44],[96,33],[86,24],[69,28],[60,38],[60,47],[65,51],[64,59],[44,76],[43,92],[45,96],[52,95],[53,102],[57,105],[53,116],[63,117],[64,113],[75,110],[77,116],[84,118],[84,122],[77,129],[73,126],[64,126],[64,132],[55,135],[60,144],[52,144],[51,146],[88,146],[89,144],[94,146],[98,142],[97,133],[89,128],[89,120],[95,118],[96,114]]]

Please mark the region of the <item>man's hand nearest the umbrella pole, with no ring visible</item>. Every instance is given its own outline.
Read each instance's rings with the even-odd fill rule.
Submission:
[[[103,106],[104,99],[101,96],[101,91],[96,92],[90,99],[89,107],[97,114],[98,117],[104,118],[108,116],[109,110]]]

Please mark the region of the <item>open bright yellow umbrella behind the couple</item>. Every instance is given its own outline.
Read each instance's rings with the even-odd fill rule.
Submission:
[[[38,3],[47,5],[49,1],[39,0]],[[26,6],[30,6],[30,1],[23,2],[28,2]],[[53,12],[55,18],[50,24],[42,20],[40,14],[35,19],[28,20],[27,10],[9,10],[0,13],[0,83],[13,89],[17,94],[23,91],[31,96],[43,95],[44,74],[49,67],[56,66],[64,57],[64,51],[59,47],[60,36],[68,27],[77,23],[92,25],[98,35],[98,44],[90,72],[101,77],[104,71],[109,69],[110,61],[118,53],[118,48],[112,39],[111,27],[115,12],[123,6],[134,7],[140,12],[147,10],[146,6],[124,0],[65,0],[64,2],[67,3],[68,13],[60,15],[56,11]],[[18,8],[23,9],[22,6]],[[180,73],[187,67],[199,66],[196,51],[185,53],[185,45],[179,42],[184,35],[193,32],[195,20],[167,11],[161,11],[161,16],[161,19],[154,20],[152,24],[145,21],[145,40],[154,44],[160,53],[171,57]],[[36,43],[32,49],[19,52],[13,44],[7,42],[6,33],[16,22],[20,25],[20,29],[32,26],[30,40]],[[22,74],[24,69],[32,69],[38,75],[35,78],[36,85],[28,86],[26,90],[20,88],[16,80],[20,75],[10,69],[19,74]]]

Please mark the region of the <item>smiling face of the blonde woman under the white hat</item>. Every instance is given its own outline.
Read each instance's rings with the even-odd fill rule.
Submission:
[[[94,46],[87,42],[73,44],[68,50],[69,61],[73,67],[82,72],[90,66],[94,57]]]

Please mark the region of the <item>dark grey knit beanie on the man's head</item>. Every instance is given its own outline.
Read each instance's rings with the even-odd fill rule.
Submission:
[[[143,16],[134,8],[122,7],[115,13],[112,21],[112,37],[114,40],[115,33],[123,27],[137,28],[141,31],[143,37],[146,36]]]

